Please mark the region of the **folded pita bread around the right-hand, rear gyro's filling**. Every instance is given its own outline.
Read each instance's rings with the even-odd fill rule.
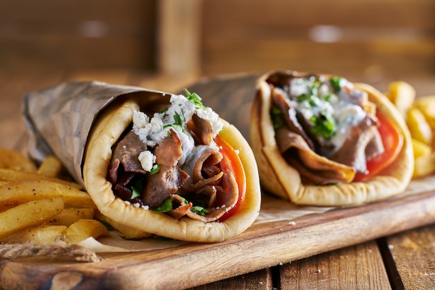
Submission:
[[[271,119],[272,92],[266,81],[270,76],[305,76],[294,71],[272,71],[258,79],[256,98],[252,106],[250,144],[258,164],[261,186],[265,191],[298,205],[357,205],[378,201],[406,189],[413,172],[411,136],[404,119],[384,94],[370,85],[355,83],[354,87],[368,93],[368,100],[403,136],[402,149],[395,161],[372,178],[361,182],[340,182],[316,185],[301,176],[299,169],[290,165],[277,146]],[[308,161],[307,161],[308,162]],[[347,167],[344,166],[343,170]],[[344,173],[343,173],[344,172]],[[347,176],[346,171],[337,173]],[[349,178],[352,180],[353,174]]]

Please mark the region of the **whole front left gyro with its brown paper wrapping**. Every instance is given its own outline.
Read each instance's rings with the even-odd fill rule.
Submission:
[[[258,216],[252,150],[197,94],[85,82],[26,101],[33,137],[42,137],[31,143],[44,145],[33,146],[33,156],[54,151],[110,221],[212,242],[240,234]]]

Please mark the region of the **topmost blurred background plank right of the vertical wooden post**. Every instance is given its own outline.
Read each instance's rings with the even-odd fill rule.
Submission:
[[[205,25],[434,27],[434,1],[204,1]]]

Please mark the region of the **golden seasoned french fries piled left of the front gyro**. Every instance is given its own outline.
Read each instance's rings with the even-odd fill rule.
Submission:
[[[108,235],[89,194],[62,172],[54,156],[37,167],[24,154],[0,148],[0,243],[77,244]]]

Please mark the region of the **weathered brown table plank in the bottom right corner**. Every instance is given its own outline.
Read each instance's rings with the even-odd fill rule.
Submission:
[[[386,238],[388,250],[404,289],[435,289],[435,225]]]

